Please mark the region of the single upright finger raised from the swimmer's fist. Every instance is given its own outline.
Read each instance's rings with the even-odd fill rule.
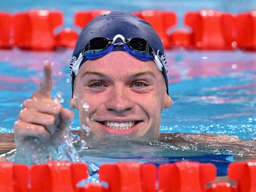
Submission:
[[[31,97],[50,98],[52,88],[52,68],[48,60],[44,61],[43,74],[39,87]]]

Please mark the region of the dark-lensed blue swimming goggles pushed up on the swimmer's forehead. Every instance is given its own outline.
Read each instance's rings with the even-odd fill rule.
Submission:
[[[119,40],[119,39],[121,40]],[[117,40],[118,39],[118,40]],[[117,41],[117,42],[116,42]],[[116,34],[112,39],[106,37],[95,37],[89,40],[79,57],[72,66],[74,75],[77,75],[79,66],[83,58],[96,59],[111,52],[117,45],[123,45],[123,49],[130,55],[144,61],[153,60],[157,68],[162,71],[162,63],[155,54],[147,40],[139,37],[124,38],[121,34]]]

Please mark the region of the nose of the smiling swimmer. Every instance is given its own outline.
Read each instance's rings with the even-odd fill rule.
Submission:
[[[105,102],[106,109],[116,114],[130,111],[133,105],[122,85],[114,86]]]

